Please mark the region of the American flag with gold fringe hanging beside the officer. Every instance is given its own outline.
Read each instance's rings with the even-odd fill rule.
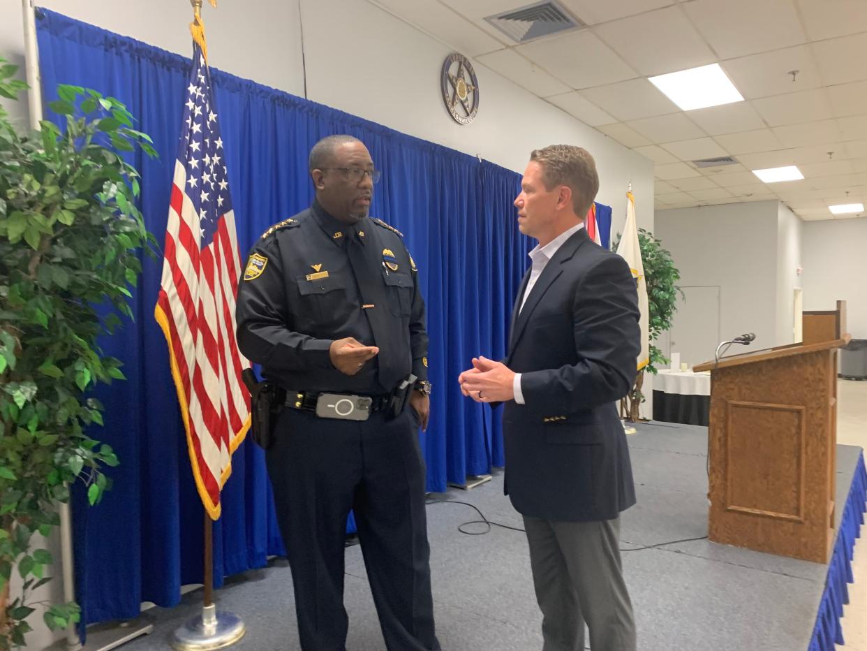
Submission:
[[[155,316],[166,335],[192,474],[205,510],[220,516],[231,453],[250,426],[235,340],[240,257],[211,76],[193,45]]]

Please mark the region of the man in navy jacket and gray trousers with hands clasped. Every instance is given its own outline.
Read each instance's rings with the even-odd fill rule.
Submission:
[[[636,503],[616,401],[636,378],[639,312],[625,260],[583,225],[599,178],[583,148],[532,152],[518,228],[538,240],[508,356],[473,358],[464,395],[505,403],[505,486],[524,516],[544,651],[635,651],[619,515]]]

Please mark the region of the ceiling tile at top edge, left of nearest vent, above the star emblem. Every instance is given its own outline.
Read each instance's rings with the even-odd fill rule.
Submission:
[[[429,0],[377,0],[377,3],[466,56],[503,47],[496,38],[440,3]]]

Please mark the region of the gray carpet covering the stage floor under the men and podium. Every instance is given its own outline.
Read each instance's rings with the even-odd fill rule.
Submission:
[[[623,513],[621,547],[660,545],[707,536],[707,428],[642,424],[629,437],[638,503]],[[838,445],[838,514],[861,449]],[[521,527],[503,496],[503,475],[473,490],[430,496],[427,507],[437,634],[444,651],[532,651],[542,647],[523,533],[493,527],[480,536],[459,532],[477,520]],[[839,526],[839,522],[838,522]],[[465,529],[482,531],[476,524]],[[623,552],[642,651],[805,649],[816,621],[827,568],[707,540]],[[373,599],[356,545],[346,550],[349,651],[384,648]],[[283,559],[233,577],[215,593],[218,608],[247,626],[241,651],[297,649],[290,569]],[[125,651],[165,649],[169,636],[201,608],[201,592],[179,607],[153,608],[152,635]]]

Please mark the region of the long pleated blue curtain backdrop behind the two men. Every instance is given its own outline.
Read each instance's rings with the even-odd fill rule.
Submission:
[[[97,89],[126,103],[153,137],[160,159],[136,155],[134,163],[147,228],[161,242],[189,59],[48,10],[40,10],[38,43],[46,100],[55,99],[58,83]],[[501,466],[499,414],[463,398],[456,378],[473,355],[505,353],[531,247],[512,207],[520,176],[218,70],[212,78],[242,257],[271,224],[310,204],[307,155],[317,140],[347,133],[368,145],[383,170],[371,212],[405,233],[427,300],[434,386],[430,427],[421,435],[427,488],[445,490]],[[123,360],[128,381],[100,388],[105,427],[94,435],[114,446],[121,465],[109,469],[114,488],[99,505],[88,508],[81,490],[74,497],[76,587],[86,623],[138,615],[142,601],[173,606],[181,585],[202,578],[203,510],[166,342],[153,320],[162,260],[142,262],[134,323],[102,341],[106,354]],[[214,526],[218,586],[284,553],[264,453],[244,443],[232,469]]]

